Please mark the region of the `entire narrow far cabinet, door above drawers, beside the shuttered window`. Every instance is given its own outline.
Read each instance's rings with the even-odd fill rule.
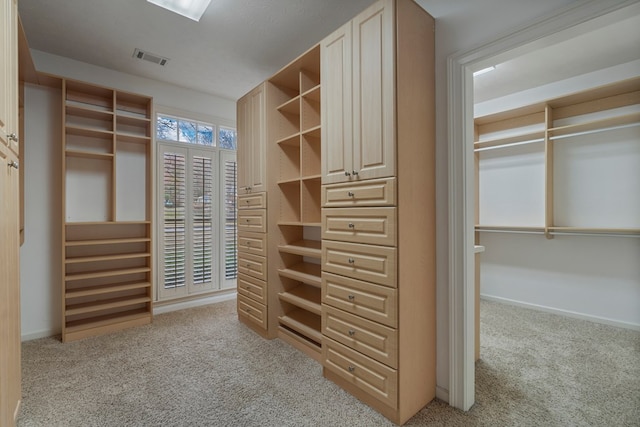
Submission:
[[[266,83],[238,100],[238,318],[267,335]]]

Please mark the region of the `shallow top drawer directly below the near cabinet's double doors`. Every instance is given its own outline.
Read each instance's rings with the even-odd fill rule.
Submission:
[[[324,208],[395,205],[395,178],[322,186],[322,207]]]

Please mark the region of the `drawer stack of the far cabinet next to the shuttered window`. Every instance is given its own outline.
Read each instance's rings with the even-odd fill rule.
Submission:
[[[238,196],[238,316],[267,329],[267,193]]]

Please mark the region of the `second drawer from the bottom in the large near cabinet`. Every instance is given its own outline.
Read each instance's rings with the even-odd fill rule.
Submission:
[[[337,308],[322,307],[322,333],[378,362],[398,368],[398,333]]]

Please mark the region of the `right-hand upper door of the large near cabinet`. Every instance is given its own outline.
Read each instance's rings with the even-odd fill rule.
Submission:
[[[382,0],[353,20],[352,174],[358,179],[395,175],[394,13],[393,1]]]

